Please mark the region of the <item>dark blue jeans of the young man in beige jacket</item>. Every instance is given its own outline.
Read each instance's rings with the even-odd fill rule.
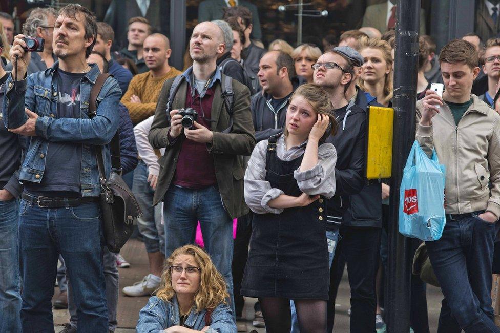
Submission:
[[[491,307],[495,223],[477,216],[446,221],[439,240],[425,242],[444,295],[438,332],[500,332]]]

